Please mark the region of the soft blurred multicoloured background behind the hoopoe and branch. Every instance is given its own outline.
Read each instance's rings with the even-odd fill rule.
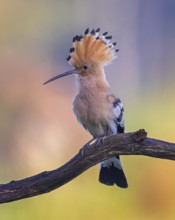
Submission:
[[[100,27],[118,42],[106,67],[126,131],[175,142],[175,1],[0,0],[0,183],[55,169],[91,136],[72,112],[72,38]],[[98,183],[95,166],[45,195],[0,206],[2,220],[175,219],[175,163],[122,156],[129,188]]]

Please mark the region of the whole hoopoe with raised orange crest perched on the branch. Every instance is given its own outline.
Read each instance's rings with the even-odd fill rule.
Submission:
[[[114,49],[117,43],[111,43],[112,36],[107,32],[102,35],[99,32],[100,28],[91,32],[87,28],[84,35],[76,35],[67,58],[75,69],[44,83],[70,74],[78,76],[79,92],[73,100],[73,111],[93,138],[124,132],[123,105],[111,92],[104,73],[104,66],[117,57],[118,49]],[[99,181],[109,186],[128,187],[119,155],[101,162]]]

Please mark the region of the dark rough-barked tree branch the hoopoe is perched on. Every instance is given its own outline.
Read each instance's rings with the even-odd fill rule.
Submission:
[[[83,150],[82,150],[83,149]],[[175,160],[175,144],[147,137],[144,130],[106,137],[84,147],[58,169],[0,185],[0,203],[50,192],[71,181],[97,163],[119,155],[145,155]]]

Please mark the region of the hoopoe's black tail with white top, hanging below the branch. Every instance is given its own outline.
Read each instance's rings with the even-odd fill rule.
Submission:
[[[127,179],[118,155],[101,163],[99,181],[108,186],[116,184],[121,188],[128,187]]]

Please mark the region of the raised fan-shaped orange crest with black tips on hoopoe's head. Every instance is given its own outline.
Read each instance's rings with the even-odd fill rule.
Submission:
[[[103,66],[111,63],[116,57],[118,49],[114,49],[117,43],[111,43],[112,36],[107,32],[99,34],[100,28],[89,31],[84,35],[76,35],[73,38],[73,47],[67,61],[75,68],[82,68],[89,62],[99,63]]]

